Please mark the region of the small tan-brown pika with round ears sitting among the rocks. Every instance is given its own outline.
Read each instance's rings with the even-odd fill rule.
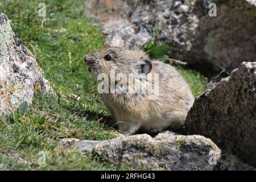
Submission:
[[[131,135],[138,130],[158,133],[167,128],[172,131],[183,128],[194,97],[191,88],[174,67],[150,60],[143,51],[122,48],[96,49],[86,54],[84,60],[94,78],[101,73],[111,77],[112,71],[115,76],[120,73],[127,76],[120,81],[121,85],[117,83],[118,79],[104,79],[106,84],[114,85],[119,92],[100,93],[121,133]],[[158,79],[148,79],[150,74],[157,75]],[[128,82],[130,75],[135,81]],[[158,94],[150,98],[156,92],[146,90],[146,85],[151,82],[156,86],[156,81]],[[135,86],[136,82],[141,82],[142,86]],[[142,92],[127,92],[129,86]]]

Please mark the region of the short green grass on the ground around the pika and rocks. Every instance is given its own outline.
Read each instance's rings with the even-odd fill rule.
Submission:
[[[46,18],[37,15],[40,2],[46,3]],[[0,115],[0,170],[132,169],[129,164],[114,166],[59,144],[61,138],[117,137],[116,131],[102,124],[110,120],[109,113],[82,60],[85,53],[104,45],[100,31],[84,15],[83,1],[3,0],[0,11],[8,16],[15,34],[34,53],[57,95],[36,92],[29,110],[18,119]],[[195,95],[204,91],[203,77],[187,68],[177,68]],[[74,101],[67,97],[69,93],[81,99]],[[46,153],[46,165],[38,164],[41,151]]]

